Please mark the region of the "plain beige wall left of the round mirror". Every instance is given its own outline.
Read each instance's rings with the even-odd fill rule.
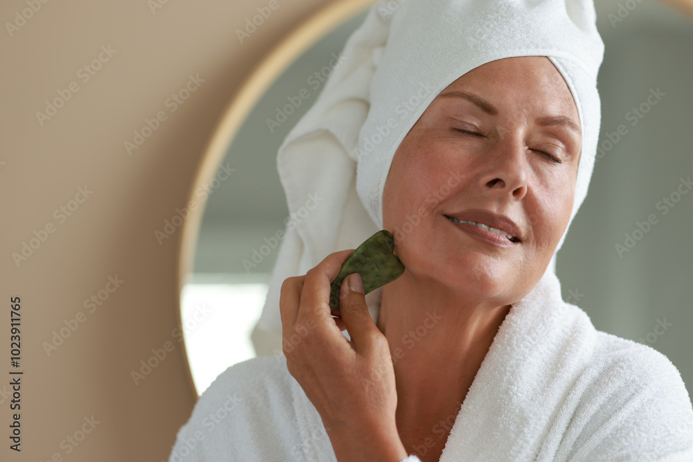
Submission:
[[[236,28],[266,0],[158,1],[153,11],[145,0],[0,3],[3,24],[28,3],[37,8],[17,21],[19,28],[3,26],[0,38],[1,460],[168,457],[195,391],[183,345],[171,333],[182,233],[159,245],[155,230],[186,203],[207,142],[243,78],[329,3],[280,1],[240,44]],[[94,75],[78,72],[99,57]],[[174,112],[166,100],[186,87],[188,75],[204,82]],[[35,113],[59,91],[71,96],[40,121]],[[124,141],[159,111],[166,120],[128,154]],[[78,195],[80,187],[93,193]],[[63,215],[61,206],[73,211]],[[46,226],[52,232],[42,236]],[[30,242],[34,232],[44,242]],[[12,254],[21,254],[23,242],[37,248],[17,265]],[[109,276],[123,282],[116,288]],[[105,301],[85,307],[99,291]],[[21,297],[19,368],[9,364],[10,296]],[[44,342],[61,328],[67,338],[46,353]],[[135,385],[131,371],[165,344],[173,350]],[[24,371],[20,453],[8,448],[10,370]],[[93,428],[85,425],[92,416]],[[75,447],[67,437],[80,439],[82,427],[89,433]]]

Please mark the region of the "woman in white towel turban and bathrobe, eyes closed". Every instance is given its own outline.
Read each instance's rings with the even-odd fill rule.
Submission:
[[[220,375],[170,460],[692,460],[676,368],[597,332],[553,272],[599,131],[593,6],[388,6],[280,149],[290,209],[328,205],[273,274],[286,359]],[[380,228],[404,274],[370,297],[350,275],[330,313],[333,249]]]

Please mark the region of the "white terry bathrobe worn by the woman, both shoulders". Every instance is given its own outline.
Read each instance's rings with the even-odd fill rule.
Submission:
[[[561,300],[552,272],[513,305],[454,423],[431,438],[446,425],[443,462],[693,461],[693,409],[676,367],[595,330]],[[335,460],[317,410],[275,356],[219,375],[169,462]]]

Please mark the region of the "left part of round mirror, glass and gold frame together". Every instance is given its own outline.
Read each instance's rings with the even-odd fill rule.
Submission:
[[[289,211],[277,150],[312,105],[373,0],[337,1],[250,73],[204,155],[184,224],[181,321],[198,395],[228,366],[256,355],[250,334],[265,302]]]

